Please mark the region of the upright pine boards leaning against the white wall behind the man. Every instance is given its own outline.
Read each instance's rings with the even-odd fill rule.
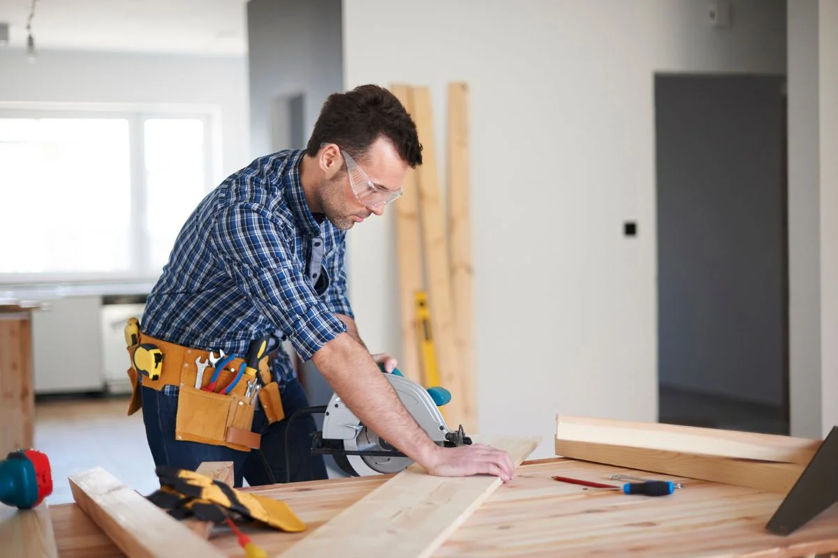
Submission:
[[[395,204],[401,311],[401,371],[431,387],[422,371],[440,371],[452,393],[445,408],[452,427],[477,433],[473,376],[471,223],[468,198],[468,88],[447,88],[447,213],[437,167],[431,91],[393,84],[391,91],[416,121],[422,165],[408,171]],[[427,294],[430,327],[417,320],[417,294]],[[423,340],[432,351],[422,351]],[[429,362],[429,359],[436,359]]]

